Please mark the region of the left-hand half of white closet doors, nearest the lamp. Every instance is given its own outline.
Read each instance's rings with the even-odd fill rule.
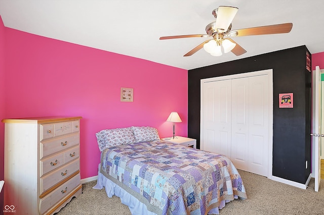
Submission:
[[[204,83],[201,149],[231,157],[231,80]]]

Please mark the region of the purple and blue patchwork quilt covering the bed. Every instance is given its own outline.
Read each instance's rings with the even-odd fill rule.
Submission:
[[[234,195],[247,198],[229,158],[163,141],[107,148],[100,172],[156,214],[207,214]]]

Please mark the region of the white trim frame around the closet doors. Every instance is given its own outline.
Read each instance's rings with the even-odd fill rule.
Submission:
[[[228,80],[228,79],[236,79],[236,78],[247,78],[253,76],[260,76],[260,75],[268,75],[269,81],[269,146],[268,146],[268,179],[272,179],[272,150],[273,150],[273,70],[260,70],[256,72],[247,72],[247,73],[239,73],[235,75],[226,75],[226,76],[219,76],[213,78],[206,78],[200,79],[200,139],[203,136],[204,131],[204,83],[206,82],[213,82],[213,81],[221,81],[221,80]]]

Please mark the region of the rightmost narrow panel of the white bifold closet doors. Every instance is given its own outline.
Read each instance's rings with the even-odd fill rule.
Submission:
[[[249,172],[268,176],[268,76],[249,78]]]

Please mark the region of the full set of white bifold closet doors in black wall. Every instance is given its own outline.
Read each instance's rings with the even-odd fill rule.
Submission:
[[[220,78],[201,80],[201,149],[271,176],[272,71]]]

